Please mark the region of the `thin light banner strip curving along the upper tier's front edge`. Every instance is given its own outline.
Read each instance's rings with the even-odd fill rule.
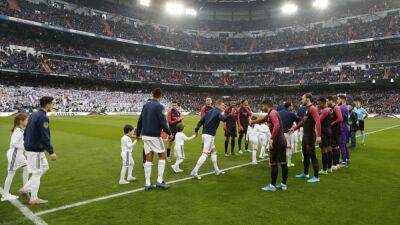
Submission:
[[[240,56],[240,55],[270,54],[270,53],[277,53],[277,52],[298,51],[298,50],[305,50],[305,49],[333,47],[333,46],[340,46],[340,45],[350,45],[350,44],[357,44],[357,43],[364,43],[364,42],[373,42],[373,41],[382,41],[382,40],[390,40],[390,39],[399,39],[400,38],[400,34],[395,34],[395,35],[388,35],[388,36],[382,36],[382,37],[363,38],[363,39],[352,40],[352,41],[341,41],[341,42],[328,43],[328,44],[316,44],[316,45],[265,50],[265,51],[257,51],[257,52],[207,52],[207,51],[178,49],[178,48],[156,45],[156,44],[147,44],[147,43],[139,42],[139,41],[110,37],[110,36],[106,36],[106,35],[86,32],[86,31],[68,29],[68,28],[61,27],[61,26],[39,23],[39,22],[25,20],[25,19],[21,19],[21,18],[12,17],[12,16],[0,15],[0,20],[23,23],[23,24],[27,24],[30,26],[36,26],[36,27],[41,27],[41,28],[45,28],[45,29],[57,30],[57,31],[62,31],[62,32],[66,32],[66,33],[83,35],[83,36],[95,37],[98,39],[111,40],[111,41],[123,42],[123,43],[128,43],[128,44],[134,44],[134,45],[142,45],[142,46],[165,49],[165,50],[170,50],[170,51],[179,51],[179,52],[187,52],[187,53],[192,53],[192,54],[203,54],[203,55],[237,55],[237,56]]]

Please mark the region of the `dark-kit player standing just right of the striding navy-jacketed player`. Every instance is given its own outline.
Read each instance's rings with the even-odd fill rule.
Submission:
[[[229,139],[231,141],[231,154],[235,155],[235,142],[237,136],[236,127],[236,101],[232,100],[227,109],[225,109],[224,115],[227,115],[227,120],[224,123],[224,134],[225,134],[225,156],[228,155]]]

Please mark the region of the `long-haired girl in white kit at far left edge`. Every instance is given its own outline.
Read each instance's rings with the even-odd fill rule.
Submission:
[[[8,174],[6,181],[4,182],[4,191],[1,197],[1,201],[11,201],[18,199],[18,196],[10,194],[10,187],[14,178],[15,172],[23,167],[22,181],[25,185],[29,179],[28,168],[26,167],[27,161],[24,155],[24,129],[28,123],[28,115],[25,113],[19,113],[14,118],[14,127],[12,129],[10,149],[7,151],[8,160]],[[27,194],[27,192],[21,193]]]

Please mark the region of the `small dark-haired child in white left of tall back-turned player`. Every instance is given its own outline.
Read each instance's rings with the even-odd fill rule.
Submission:
[[[132,176],[133,166],[135,162],[132,157],[133,147],[137,144],[137,140],[132,142],[133,127],[132,125],[124,126],[124,136],[121,138],[121,157],[122,157],[122,168],[119,179],[119,184],[129,184],[129,181],[134,181],[136,178]],[[126,171],[128,171],[128,177],[125,180]]]

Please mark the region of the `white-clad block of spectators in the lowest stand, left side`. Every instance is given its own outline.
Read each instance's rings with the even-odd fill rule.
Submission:
[[[138,112],[150,93],[0,85],[0,112],[32,111],[41,96],[54,96],[58,112]],[[161,101],[169,105],[168,99]]]

